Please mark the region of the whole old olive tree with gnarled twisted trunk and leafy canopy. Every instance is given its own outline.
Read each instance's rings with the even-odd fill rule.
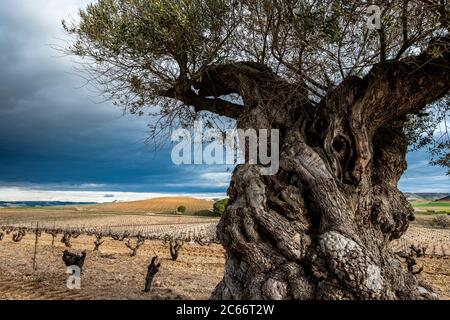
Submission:
[[[397,188],[408,147],[449,164],[430,130],[449,111],[449,14],[438,0],[98,0],[63,25],[90,81],[151,115],[153,137],[200,116],[279,130],[276,175],[233,173],[212,298],[409,299],[427,291],[388,245],[414,218]]]

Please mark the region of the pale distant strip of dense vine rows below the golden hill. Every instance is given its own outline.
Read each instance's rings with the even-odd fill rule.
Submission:
[[[80,235],[113,240],[141,239],[147,241],[182,241],[183,243],[209,245],[218,243],[217,221],[210,218],[173,216],[107,216],[63,221],[10,222],[0,220],[0,240],[12,234],[13,241],[26,234],[46,233],[53,238],[62,237],[70,242]],[[391,243],[394,252],[404,252],[413,245],[424,248],[427,255],[450,256],[450,230],[411,226],[399,240]],[[69,246],[68,246],[69,247]]]

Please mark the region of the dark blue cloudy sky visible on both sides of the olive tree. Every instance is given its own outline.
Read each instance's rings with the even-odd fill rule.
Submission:
[[[121,198],[155,193],[224,194],[230,173],[221,167],[175,166],[169,146],[145,144],[147,120],[99,103],[59,57],[62,18],[87,0],[3,0],[0,11],[0,201]],[[424,153],[408,156],[400,186],[445,192],[444,170]],[[132,192],[126,196],[124,192]],[[139,194],[145,192],[146,194]]]

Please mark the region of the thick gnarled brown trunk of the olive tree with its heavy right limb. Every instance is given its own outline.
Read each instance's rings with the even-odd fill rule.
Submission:
[[[246,86],[228,76],[214,81],[243,97],[238,127],[280,129],[281,155],[274,176],[255,165],[234,172],[218,227],[225,275],[212,298],[430,297],[388,244],[414,219],[397,189],[405,116],[448,92],[449,60],[444,50],[387,62],[314,108],[302,88],[263,69],[262,82],[238,77]]]

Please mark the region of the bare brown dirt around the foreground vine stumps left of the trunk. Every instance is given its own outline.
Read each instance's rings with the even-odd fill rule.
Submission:
[[[81,290],[66,287],[68,275],[62,261],[64,245],[51,246],[51,237],[43,236],[38,246],[38,270],[33,271],[34,239],[28,235],[20,243],[0,242],[0,299],[207,299],[221,280],[224,251],[219,245],[185,244],[179,259],[170,259],[169,249],[161,242],[147,242],[137,257],[129,256],[123,242],[106,240],[100,252],[93,252],[94,239],[73,241],[72,252],[88,251]],[[153,290],[143,292],[147,266],[151,258],[161,258]]]

